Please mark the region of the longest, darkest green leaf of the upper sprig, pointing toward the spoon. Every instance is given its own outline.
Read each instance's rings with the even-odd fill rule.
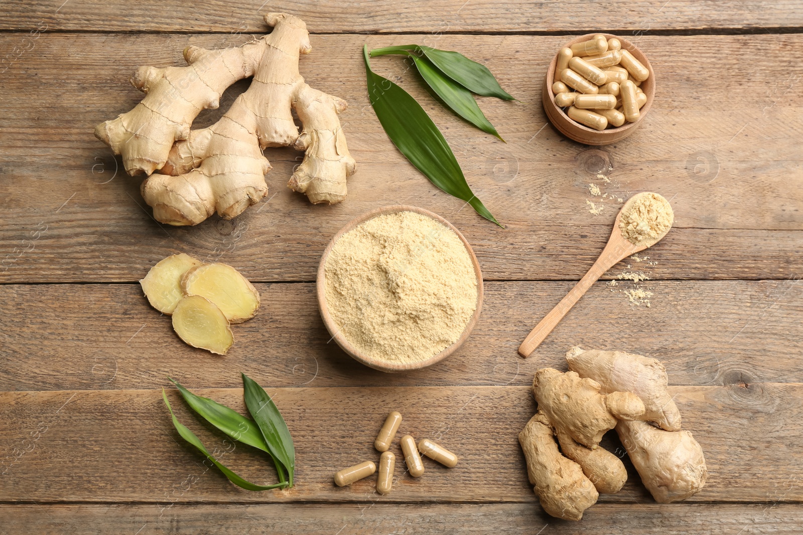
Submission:
[[[471,192],[454,152],[424,108],[402,87],[371,71],[368,47],[363,47],[363,56],[371,106],[393,144],[430,182],[463,199],[479,215],[499,225],[499,221]]]

